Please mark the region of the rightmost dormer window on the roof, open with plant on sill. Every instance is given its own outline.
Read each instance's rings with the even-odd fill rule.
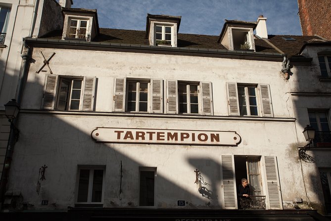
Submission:
[[[230,51],[255,51],[253,31],[256,22],[225,20],[218,43]]]

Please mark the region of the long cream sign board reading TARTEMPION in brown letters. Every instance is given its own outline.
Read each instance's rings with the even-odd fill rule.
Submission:
[[[145,128],[97,127],[92,137],[101,143],[188,144],[237,146],[241,137],[236,131],[171,130]]]

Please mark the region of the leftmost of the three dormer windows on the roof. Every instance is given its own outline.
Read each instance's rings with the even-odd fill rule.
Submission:
[[[62,40],[91,41],[99,34],[96,9],[62,8],[64,15]]]

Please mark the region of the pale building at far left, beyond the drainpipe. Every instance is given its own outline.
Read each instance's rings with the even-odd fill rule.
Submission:
[[[45,3],[44,3],[45,2]],[[62,4],[70,3],[61,2]],[[64,6],[63,4],[63,6]],[[6,182],[9,163],[4,166],[8,152],[10,124],[4,115],[4,104],[12,98],[21,100],[23,86],[22,56],[24,37],[38,38],[56,29],[62,29],[61,6],[55,0],[0,0],[0,177]],[[23,58],[23,59],[22,59]],[[22,62],[23,61],[23,62]],[[4,176],[2,171],[5,170]],[[1,189],[1,188],[0,188]]]

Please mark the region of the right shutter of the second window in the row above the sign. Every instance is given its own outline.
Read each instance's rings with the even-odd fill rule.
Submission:
[[[163,112],[163,80],[162,79],[151,79],[151,105],[150,111],[152,113]]]

